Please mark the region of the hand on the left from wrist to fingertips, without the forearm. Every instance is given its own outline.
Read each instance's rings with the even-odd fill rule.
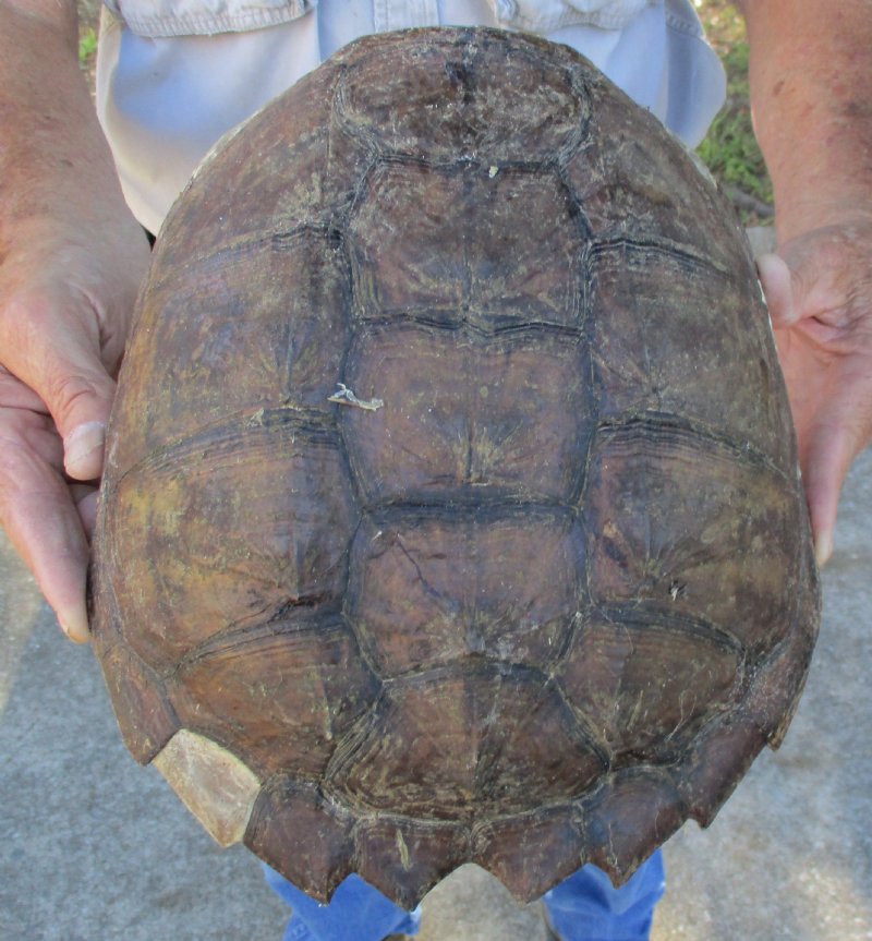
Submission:
[[[88,637],[88,536],[104,431],[148,243],[25,225],[0,256],[0,522],[61,627]]]

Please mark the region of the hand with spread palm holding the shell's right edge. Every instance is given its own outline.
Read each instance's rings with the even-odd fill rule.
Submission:
[[[758,258],[823,565],[841,484],[872,442],[872,217],[796,234]]]

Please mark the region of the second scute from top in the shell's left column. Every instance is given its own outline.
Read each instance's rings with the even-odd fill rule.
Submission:
[[[129,350],[153,391],[143,401],[122,387],[116,409],[131,432],[112,445],[110,466],[131,468],[205,426],[278,403],[328,412],[350,338],[349,292],[327,230],[170,265],[140,306]]]

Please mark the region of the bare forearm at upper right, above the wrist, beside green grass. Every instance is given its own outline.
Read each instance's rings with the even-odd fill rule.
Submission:
[[[743,0],[754,128],[779,242],[872,208],[867,0]]]

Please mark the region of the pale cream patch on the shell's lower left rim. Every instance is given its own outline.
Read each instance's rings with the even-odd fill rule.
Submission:
[[[235,755],[180,728],[152,763],[221,846],[242,840],[261,782]]]

